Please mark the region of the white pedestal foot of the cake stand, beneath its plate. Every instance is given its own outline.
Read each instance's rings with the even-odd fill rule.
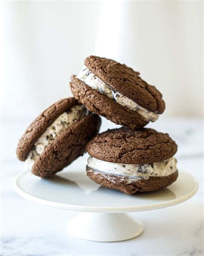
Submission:
[[[81,213],[67,225],[68,233],[86,240],[117,242],[137,237],[144,231],[141,221],[124,213]]]

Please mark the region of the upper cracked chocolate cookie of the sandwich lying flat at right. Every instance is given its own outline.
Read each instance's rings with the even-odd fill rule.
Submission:
[[[161,162],[177,151],[176,142],[167,133],[150,128],[133,131],[124,127],[96,135],[86,148],[92,157],[126,164]]]

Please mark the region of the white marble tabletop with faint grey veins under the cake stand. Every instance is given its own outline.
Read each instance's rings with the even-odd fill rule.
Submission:
[[[23,170],[15,147],[32,121],[2,118],[1,131],[1,255],[203,255],[203,123],[198,119],[165,119],[151,124],[168,132],[179,145],[180,170],[199,181],[197,194],[180,205],[131,214],[145,224],[142,236],[117,243],[97,243],[70,237],[65,224],[77,212],[49,208],[26,201],[12,189]],[[115,125],[103,122],[102,130]]]

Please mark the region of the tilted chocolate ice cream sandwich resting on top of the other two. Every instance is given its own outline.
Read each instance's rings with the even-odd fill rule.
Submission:
[[[142,80],[139,72],[106,58],[86,58],[70,86],[87,109],[132,129],[155,122],[165,109],[161,93]]]

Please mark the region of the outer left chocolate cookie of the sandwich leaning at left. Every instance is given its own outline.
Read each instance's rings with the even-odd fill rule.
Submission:
[[[78,101],[74,98],[61,99],[51,105],[44,112],[42,112],[32,123],[28,126],[22,138],[19,141],[16,149],[16,154],[19,160],[24,161],[34,147],[35,142],[40,138],[44,131],[59,117],[63,112],[77,105]]]

